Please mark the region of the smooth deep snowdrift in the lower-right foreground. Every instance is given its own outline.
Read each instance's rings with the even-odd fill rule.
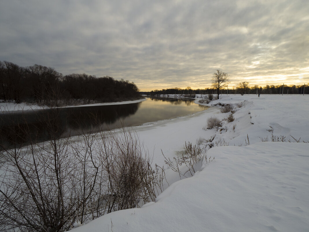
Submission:
[[[308,231],[307,149],[270,142],[212,148],[215,163],[173,183],[156,203],[74,231]]]

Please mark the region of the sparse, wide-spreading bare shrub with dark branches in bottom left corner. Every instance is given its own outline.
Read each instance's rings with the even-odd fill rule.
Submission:
[[[2,231],[65,231],[83,217],[99,168],[89,153],[77,160],[71,151],[68,140],[4,151]]]

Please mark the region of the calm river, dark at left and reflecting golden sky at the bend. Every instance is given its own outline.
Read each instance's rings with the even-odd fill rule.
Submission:
[[[100,130],[138,126],[207,109],[191,99],[148,98],[123,105],[68,107],[1,114],[0,143],[34,143]]]

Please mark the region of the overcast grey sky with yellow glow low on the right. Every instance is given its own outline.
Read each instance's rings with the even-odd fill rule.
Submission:
[[[0,0],[0,60],[142,91],[309,82],[308,0]]]

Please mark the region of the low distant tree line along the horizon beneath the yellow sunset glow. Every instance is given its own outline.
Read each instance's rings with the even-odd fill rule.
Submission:
[[[266,85],[265,87],[261,87],[258,85],[247,87],[247,88],[232,88],[232,89],[222,89],[219,94],[309,94],[309,86],[308,84],[303,85]],[[145,95],[160,95],[160,94],[182,94],[188,97],[194,97],[195,94],[216,94],[217,90],[214,88],[205,88],[205,89],[191,89],[187,87],[185,89],[182,88],[168,88],[168,89],[155,89],[150,92],[140,92]]]

